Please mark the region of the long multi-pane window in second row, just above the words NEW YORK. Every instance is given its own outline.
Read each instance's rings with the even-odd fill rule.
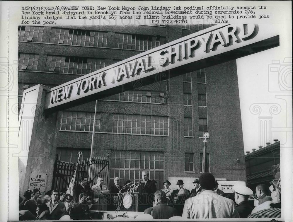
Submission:
[[[105,59],[48,55],[45,71],[88,74],[105,67]]]

